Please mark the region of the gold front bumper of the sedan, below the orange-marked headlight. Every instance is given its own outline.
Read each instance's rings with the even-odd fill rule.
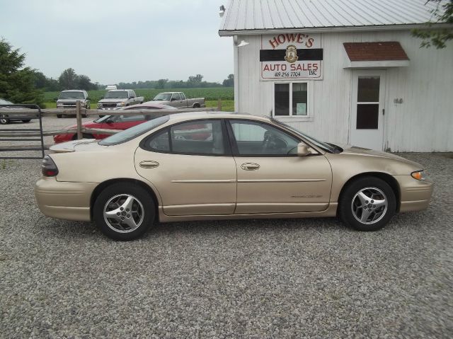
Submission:
[[[427,209],[430,205],[434,183],[430,178],[415,180],[411,176],[395,176],[401,193],[399,212],[412,212]]]

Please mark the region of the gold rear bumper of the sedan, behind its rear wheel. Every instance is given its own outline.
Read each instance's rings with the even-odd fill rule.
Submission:
[[[91,194],[98,183],[69,183],[55,177],[41,178],[35,184],[35,197],[47,217],[89,222]]]

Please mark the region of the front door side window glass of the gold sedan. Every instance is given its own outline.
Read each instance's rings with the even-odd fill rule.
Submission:
[[[239,155],[285,156],[297,154],[299,140],[277,128],[251,121],[230,121]]]

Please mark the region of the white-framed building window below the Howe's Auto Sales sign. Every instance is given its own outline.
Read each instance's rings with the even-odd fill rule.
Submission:
[[[274,116],[310,116],[306,82],[274,83]]]

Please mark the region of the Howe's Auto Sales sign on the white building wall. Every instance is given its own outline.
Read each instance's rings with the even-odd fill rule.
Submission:
[[[322,79],[321,35],[261,35],[261,79]]]

